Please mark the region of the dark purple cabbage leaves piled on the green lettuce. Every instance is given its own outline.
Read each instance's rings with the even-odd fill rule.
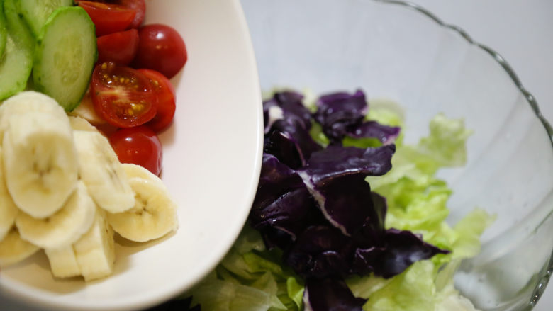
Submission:
[[[400,129],[366,121],[369,107],[360,90],[320,97],[313,115],[302,100],[286,91],[264,102],[264,155],[249,222],[306,280],[305,310],[362,310],[366,300],[354,297],[345,278],[391,278],[448,251],[384,227],[386,198],[366,177],[390,171]],[[311,137],[311,118],[328,147]],[[376,138],[381,147],[343,147],[345,137]]]

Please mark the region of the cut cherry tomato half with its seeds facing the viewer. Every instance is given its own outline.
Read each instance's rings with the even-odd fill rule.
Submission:
[[[120,128],[144,124],[155,116],[156,99],[150,79],[113,62],[94,68],[90,97],[96,113]]]

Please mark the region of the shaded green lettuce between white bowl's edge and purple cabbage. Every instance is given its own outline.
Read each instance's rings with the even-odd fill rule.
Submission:
[[[262,237],[245,225],[216,269],[183,298],[202,311],[301,310],[303,283],[281,262],[281,253],[268,251]]]

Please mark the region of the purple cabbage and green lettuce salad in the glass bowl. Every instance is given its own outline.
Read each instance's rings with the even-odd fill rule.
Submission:
[[[464,164],[470,131],[438,114],[406,145],[403,124],[361,90],[270,94],[247,224],[208,277],[155,310],[476,310],[453,273],[493,217],[448,225],[452,190],[435,176]]]

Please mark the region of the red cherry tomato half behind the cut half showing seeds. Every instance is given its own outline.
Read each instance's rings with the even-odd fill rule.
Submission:
[[[145,125],[155,132],[161,132],[169,127],[174,117],[176,106],[173,84],[163,74],[155,70],[138,69],[138,71],[150,79],[154,86],[155,98],[157,98],[155,117]]]

